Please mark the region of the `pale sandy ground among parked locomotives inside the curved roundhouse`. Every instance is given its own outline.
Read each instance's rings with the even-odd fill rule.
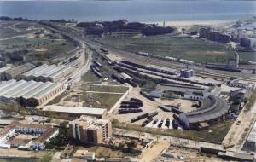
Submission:
[[[189,100],[182,100],[182,99],[174,99],[174,100],[160,100],[156,99],[156,101],[150,101],[147,98],[143,97],[143,95],[139,94],[140,89],[134,88],[131,90],[131,92],[125,97],[124,101],[129,101],[131,97],[138,98],[143,101],[143,112],[140,113],[126,113],[126,114],[119,114],[118,109],[115,109],[112,114],[109,114],[111,118],[119,119],[119,122],[130,122],[132,118],[141,115],[143,113],[154,113],[155,111],[158,111],[158,115],[154,117],[154,119],[167,119],[170,120],[173,119],[172,112],[164,112],[160,108],[157,108],[160,105],[173,105],[177,106],[178,103],[181,103],[180,109],[183,112],[190,112],[195,109],[195,107],[191,107],[193,104],[193,101]],[[145,119],[139,120],[135,122],[134,124],[142,124]]]

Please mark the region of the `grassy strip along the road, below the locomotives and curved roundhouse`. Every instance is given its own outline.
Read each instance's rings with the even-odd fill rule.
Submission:
[[[149,129],[144,128],[136,124],[127,124],[123,126],[122,124],[113,124],[117,128],[124,128],[127,130],[137,130],[140,132],[148,132],[154,135],[163,136],[177,136],[185,139],[191,139],[194,141],[201,142],[212,142],[220,144],[224,140],[224,136],[230,130],[233,120],[225,119],[217,124],[212,124],[207,130],[164,130],[164,129]]]

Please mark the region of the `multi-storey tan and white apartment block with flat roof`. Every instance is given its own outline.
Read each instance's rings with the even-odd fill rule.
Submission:
[[[69,122],[69,136],[84,143],[106,143],[112,136],[112,125],[107,119],[81,116]]]

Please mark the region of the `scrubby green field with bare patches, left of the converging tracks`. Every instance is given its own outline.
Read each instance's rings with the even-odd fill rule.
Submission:
[[[0,22],[1,61],[47,61],[56,63],[73,55],[77,44],[33,21]],[[3,32],[3,33],[2,33]]]

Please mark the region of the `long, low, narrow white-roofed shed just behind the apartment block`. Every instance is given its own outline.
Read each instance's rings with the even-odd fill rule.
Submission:
[[[72,117],[80,117],[81,115],[88,115],[103,119],[107,114],[107,110],[103,108],[90,108],[90,107],[65,107],[49,105],[43,108],[44,112],[55,113],[56,115],[65,117],[65,119]]]

